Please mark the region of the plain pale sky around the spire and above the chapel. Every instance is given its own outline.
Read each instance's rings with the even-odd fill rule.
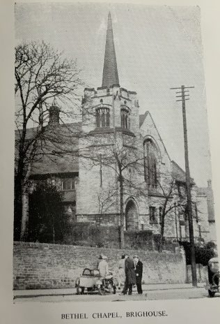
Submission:
[[[203,46],[198,6],[125,3],[17,3],[15,44],[45,40],[75,59],[88,87],[101,87],[111,11],[120,86],[136,91],[172,160],[184,169],[182,104],[171,87],[194,86],[186,101],[191,177],[211,179]],[[81,93],[83,95],[83,92]]]

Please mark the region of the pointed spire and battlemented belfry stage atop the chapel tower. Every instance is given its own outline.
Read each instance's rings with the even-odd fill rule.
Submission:
[[[139,105],[135,91],[120,87],[111,13],[108,15],[102,87],[84,89],[83,131],[139,131]]]

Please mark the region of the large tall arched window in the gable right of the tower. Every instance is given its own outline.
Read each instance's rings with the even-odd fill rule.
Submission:
[[[144,176],[149,186],[157,187],[158,181],[158,151],[152,140],[145,140],[144,149]]]

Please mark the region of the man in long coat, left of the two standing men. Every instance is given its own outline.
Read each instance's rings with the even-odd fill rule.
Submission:
[[[134,260],[125,256],[125,286],[121,295],[132,295],[132,286],[136,284],[136,273],[134,271]]]

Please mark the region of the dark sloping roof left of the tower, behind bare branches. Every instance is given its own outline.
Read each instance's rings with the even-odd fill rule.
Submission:
[[[79,172],[77,150],[80,132],[81,123],[59,124],[54,128],[46,126],[43,140],[39,138],[36,142],[36,158],[30,176]],[[37,128],[28,128],[26,139],[31,140],[36,134]],[[19,140],[19,131],[15,131],[15,138]]]

